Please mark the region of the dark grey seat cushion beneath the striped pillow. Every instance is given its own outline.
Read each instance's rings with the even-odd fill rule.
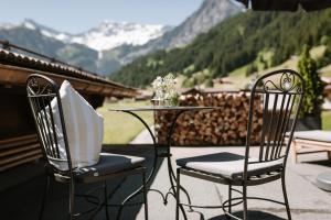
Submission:
[[[104,176],[141,166],[145,158],[120,154],[102,153],[96,165],[75,168],[76,177]]]

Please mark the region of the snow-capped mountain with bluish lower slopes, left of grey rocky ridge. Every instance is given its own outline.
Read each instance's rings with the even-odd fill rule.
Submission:
[[[19,24],[0,23],[0,40],[41,54],[107,75],[120,68],[117,55],[105,54],[114,47],[131,48],[159,37],[169,26],[105,21],[79,34],[60,32],[33,20]],[[114,48],[116,50],[116,48]],[[126,52],[121,50],[119,54]]]

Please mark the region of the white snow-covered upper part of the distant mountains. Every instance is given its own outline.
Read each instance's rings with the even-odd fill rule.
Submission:
[[[24,20],[21,24],[30,30],[39,30],[43,35],[53,37],[64,43],[77,43],[86,45],[98,52],[110,50],[124,44],[142,45],[148,41],[161,36],[169,26],[157,24],[138,24],[127,22],[104,21],[97,28],[78,34],[58,32],[47,26],[41,25],[32,20]],[[1,25],[4,26],[4,25]],[[14,25],[6,24],[7,29]]]

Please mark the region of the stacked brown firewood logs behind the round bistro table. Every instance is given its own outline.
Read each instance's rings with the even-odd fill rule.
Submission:
[[[184,112],[175,124],[173,145],[242,145],[246,142],[249,94],[221,92],[181,96],[181,106],[218,107],[213,110]],[[261,129],[261,99],[254,105],[252,143],[257,143]],[[156,134],[159,144],[167,143],[174,111],[156,112]]]

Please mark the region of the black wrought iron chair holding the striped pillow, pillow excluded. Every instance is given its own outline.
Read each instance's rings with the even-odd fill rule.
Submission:
[[[58,92],[58,86],[52,79],[33,74],[29,76],[26,80],[28,99],[31,106],[33,118],[36,124],[36,130],[42,147],[44,165],[46,168],[46,185],[44,196],[42,200],[42,207],[39,219],[43,218],[44,206],[46,201],[46,195],[50,188],[51,178],[56,182],[67,183],[70,187],[70,207],[68,218],[78,218],[84,213],[90,213],[92,216],[100,211],[105,207],[106,218],[109,219],[107,193],[107,179],[121,178],[128,175],[141,175],[143,186],[141,188],[143,195],[145,205],[145,218],[148,219],[148,207],[147,207],[147,194],[146,194],[146,168],[142,166],[145,158],[134,157],[119,154],[102,153],[100,160],[96,165],[88,167],[73,167],[71,152],[68,146],[67,133],[64,122],[63,108]],[[54,117],[51,108],[51,101],[57,100],[57,110],[60,113],[61,129],[56,128]],[[53,102],[52,102],[53,103]],[[57,135],[56,135],[57,132]],[[58,132],[62,132],[60,136],[63,136],[65,145],[65,156],[61,156],[61,150],[58,147]],[[62,170],[54,165],[54,162],[65,163],[67,170]],[[75,187],[77,184],[89,184],[89,183],[103,183],[104,187],[104,200],[92,195],[85,195],[86,199],[92,202],[93,208],[85,210],[81,213],[76,213],[74,210],[75,205]],[[119,218],[119,216],[117,216]]]

